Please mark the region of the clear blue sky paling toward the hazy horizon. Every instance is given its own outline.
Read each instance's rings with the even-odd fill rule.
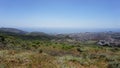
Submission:
[[[120,0],[0,0],[0,27],[120,29]]]

